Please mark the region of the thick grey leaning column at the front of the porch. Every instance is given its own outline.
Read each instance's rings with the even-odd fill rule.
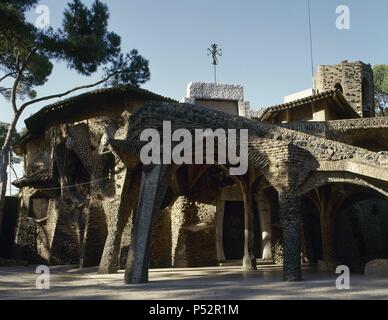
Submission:
[[[125,270],[125,283],[127,284],[148,281],[151,224],[167,191],[165,172],[166,167],[162,165],[143,168],[132,244]]]

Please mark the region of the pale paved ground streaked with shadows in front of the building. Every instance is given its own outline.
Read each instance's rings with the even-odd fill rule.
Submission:
[[[123,272],[53,267],[50,289],[37,290],[33,267],[0,268],[0,299],[388,299],[388,279],[351,276],[350,290],[337,290],[337,275],[304,271],[304,281],[282,282],[278,267],[242,273],[238,267],[158,269],[150,282],[125,285]]]

